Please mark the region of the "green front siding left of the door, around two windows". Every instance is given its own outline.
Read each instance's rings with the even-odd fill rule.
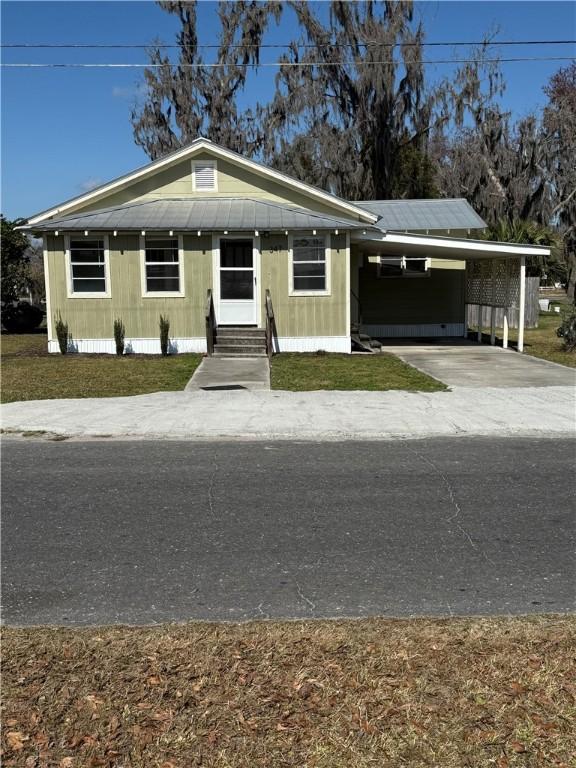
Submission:
[[[160,313],[170,319],[170,335],[203,337],[206,290],[212,279],[212,246],[209,237],[184,236],[185,296],[144,298],[141,289],[140,250],[137,235],[110,237],[111,298],[67,298],[64,238],[48,236],[48,269],[52,317],[58,312],[73,338],[106,339],[113,336],[115,318],[123,320],[127,338],[158,336]]]

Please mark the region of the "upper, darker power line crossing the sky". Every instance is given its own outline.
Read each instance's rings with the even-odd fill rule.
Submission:
[[[382,46],[385,48],[394,48],[400,43],[383,43],[379,40],[366,40],[359,42],[360,47],[365,46]],[[462,40],[440,42],[406,42],[401,43],[403,47],[415,47],[415,46],[500,46],[500,45],[574,45],[576,40],[500,40],[500,41],[471,41],[464,42]],[[247,44],[235,44],[227,46],[228,48],[289,48],[290,46],[296,46],[297,48],[325,48],[330,45],[338,46],[338,48],[354,48],[354,43],[339,43],[338,41],[328,41],[323,45],[317,43],[247,43]],[[199,44],[197,48],[220,48],[219,45]],[[180,48],[179,45],[169,43],[2,43],[0,48]]]

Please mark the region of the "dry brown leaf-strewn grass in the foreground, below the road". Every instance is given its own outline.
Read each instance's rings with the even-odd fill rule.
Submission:
[[[3,630],[3,758],[84,768],[574,765],[576,619]]]

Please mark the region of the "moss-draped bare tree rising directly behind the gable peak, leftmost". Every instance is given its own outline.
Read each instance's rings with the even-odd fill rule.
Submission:
[[[218,144],[253,154],[251,114],[239,113],[237,96],[249,67],[259,62],[262,37],[280,4],[240,0],[218,7],[220,41],[214,61],[202,56],[197,34],[196,2],[161,0],[158,5],[178,17],[181,30],[178,62],[173,64],[160,43],[149,51],[154,68],[144,71],[145,96],[131,115],[134,140],[156,159],[205,136]],[[207,64],[216,66],[207,66]]]

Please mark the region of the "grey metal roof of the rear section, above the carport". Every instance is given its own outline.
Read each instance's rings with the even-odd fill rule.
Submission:
[[[380,218],[381,229],[428,231],[435,229],[484,229],[483,221],[464,198],[438,200],[357,200]]]

